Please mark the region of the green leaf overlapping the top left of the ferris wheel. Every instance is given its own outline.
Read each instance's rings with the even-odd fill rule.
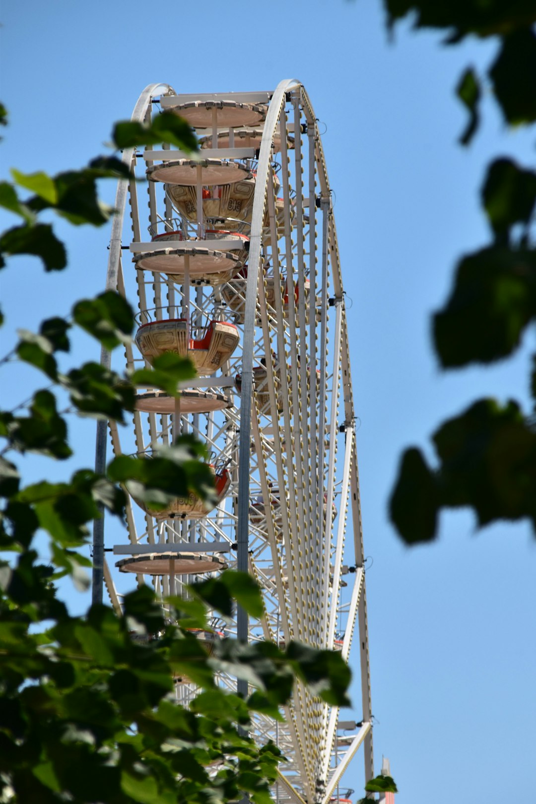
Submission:
[[[198,150],[194,130],[174,112],[162,112],[153,118],[150,125],[134,121],[120,121],[113,129],[113,142],[117,148],[151,146],[169,142],[183,151]]]

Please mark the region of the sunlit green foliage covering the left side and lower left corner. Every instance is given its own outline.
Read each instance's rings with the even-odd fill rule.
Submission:
[[[0,123],[5,123],[0,107]],[[189,126],[164,113],[149,126],[118,124],[117,146],[173,142],[193,150]],[[0,183],[0,205],[23,224],[0,236],[5,258],[38,256],[45,270],[66,267],[66,252],[50,224],[48,210],[72,224],[104,224],[112,210],[98,200],[99,178],[128,178],[117,158],[98,158],[87,168],[55,177],[12,171],[14,184]],[[30,191],[21,200],[18,189]],[[129,343],[133,310],[118,293],[107,291],[78,301],[69,318],[48,318],[36,333],[18,331],[18,343],[2,360],[28,363],[47,387],[12,411],[0,411],[0,549],[14,554],[0,560],[0,802],[72,804],[223,804],[248,794],[254,804],[272,801],[269,789],[284,761],[272,742],[259,746],[248,736],[252,714],[281,718],[295,676],[314,695],[349,703],[350,671],[337,652],[290,642],[244,645],[217,638],[207,650],[198,638],[210,631],[207,606],[229,616],[236,602],[253,617],[263,612],[260,591],[248,575],[223,573],[194,585],[192,599],[162,602],[149,587],[127,594],[122,613],[93,605],[72,617],[56,594],[55,580],[71,576],[87,589],[84,555],[88,525],[104,507],[124,519],[125,489],[158,506],[190,491],[214,493],[205,449],[193,437],[180,437],[145,457],[118,456],[106,474],[79,470],[67,482],[43,480],[24,485],[14,457],[39,453],[56,460],[72,455],[66,412],[58,392],[67,392],[80,415],[125,421],[140,384],[175,396],[178,382],[194,376],[188,360],[163,355],[155,367],[119,375],[100,363],[62,371],[58,353],[68,353],[76,327],[102,347]],[[7,380],[9,381],[9,379]],[[43,564],[35,538],[46,533],[50,560]],[[215,683],[215,672],[247,679],[254,691],[244,700]],[[178,703],[180,679],[199,687],[189,707]]]

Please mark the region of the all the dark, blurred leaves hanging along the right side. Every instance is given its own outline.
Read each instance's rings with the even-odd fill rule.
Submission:
[[[411,15],[415,28],[444,31],[455,45],[469,35],[497,42],[487,74],[466,68],[456,94],[468,110],[460,144],[481,125],[485,92],[505,124],[536,121],[536,0],[384,0],[388,27]],[[442,310],[433,316],[433,343],[445,369],[495,363],[513,355],[536,319],[534,207],[536,171],[507,156],[488,166],[481,203],[491,242],[466,254]],[[528,387],[536,410],[536,371]],[[508,390],[506,393],[508,393]],[[391,520],[406,544],[434,539],[441,509],[469,507],[478,527],[529,519],[536,531],[534,410],[516,400],[477,400],[432,436],[438,465],[406,449],[391,494]]]

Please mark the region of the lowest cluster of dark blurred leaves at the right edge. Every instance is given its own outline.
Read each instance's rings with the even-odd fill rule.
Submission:
[[[408,468],[403,461],[391,498],[391,517],[407,544],[433,538],[432,513],[440,507],[470,507],[480,527],[501,519],[527,518],[536,531],[536,432],[518,404],[501,406],[495,400],[478,400],[460,416],[444,422],[433,441],[439,458],[437,470],[432,473],[428,469],[418,450],[407,450],[406,455],[417,456],[417,466]],[[403,497],[401,489],[411,493]],[[423,524],[425,507],[432,510],[428,527]],[[394,509],[401,511],[396,519]]]

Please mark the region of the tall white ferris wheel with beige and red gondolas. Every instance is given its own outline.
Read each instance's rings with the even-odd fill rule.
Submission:
[[[199,158],[166,144],[125,152],[146,181],[118,187],[107,288],[139,310],[127,367],[150,367],[175,351],[192,359],[198,376],[177,399],[139,389],[132,429],[125,435],[110,422],[109,433],[113,453],[146,457],[193,433],[211,454],[217,502],[192,495],[162,511],[131,497],[129,544],[114,546],[113,566],[104,560],[104,581],[120,611],[125,578],[166,597],[197,577],[239,568],[260,585],[263,616],[215,615],[199,638],[223,632],[280,646],[294,639],[345,659],[357,643],[357,723],[339,720],[338,708],[299,680],[284,724],[265,716],[255,723],[256,739],[274,740],[288,758],[274,797],[328,804],[358,749],[367,779],[374,770],[350,355],[317,121],[297,80],[273,92],[198,96],[153,84],[133,120],[150,120],[155,107],[192,125]],[[107,438],[100,425],[97,468]],[[178,680],[187,702],[194,687]],[[235,679],[219,682],[235,689]]]

